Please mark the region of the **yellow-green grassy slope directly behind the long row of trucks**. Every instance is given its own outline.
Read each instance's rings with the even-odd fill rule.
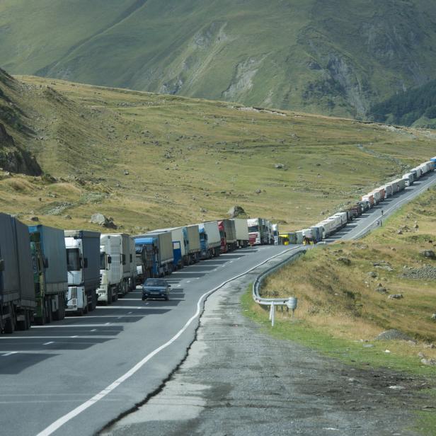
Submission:
[[[0,91],[22,114],[0,122],[44,171],[0,172],[0,210],[60,227],[102,212],[137,233],[237,204],[301,228],[435,155],[431,132],[340,118],[30,76]]]

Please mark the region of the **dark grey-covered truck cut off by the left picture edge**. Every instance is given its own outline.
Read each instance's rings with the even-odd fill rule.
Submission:
[[[0,331],[27,330],[35,306],[28,227],[0,213]]]

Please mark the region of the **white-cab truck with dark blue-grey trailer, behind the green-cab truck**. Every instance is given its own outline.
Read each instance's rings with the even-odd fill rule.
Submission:
[[[96,309],[100,286],[100,233],[86,230],[65,230],[67,249],[68,293],[67,312],[79,315]]]

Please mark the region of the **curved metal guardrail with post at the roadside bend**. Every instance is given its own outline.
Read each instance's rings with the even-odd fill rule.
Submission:
[[[280,268],[283,268],[285,265],[293,262],[300,256],[302,256],[304,253],[306,253],[306,249],[302,246],[294,248],[294,253],[289,256],[289,258],[286,258],[285,260],[282,260],[280,263],[277,263],[277,265],[272,266],[271,268],[268,268],[268,270],[265,270],[262,272],[262,274],[258,275],[256,277],[256,280],[253,283],[253,300],[261,304],[263,306],[270,306],[270,321],[271,326],[274,327],[274,315],[275,315],[275,307],[276,306],[287,306],[287,310],[292,310],[292,316],[294,315],[294,310],[297,309],[297,298],[296,297],[288,297],[288,298],[263,298],[260,297],[259,290],[263,283],[263,280],[265,280],[268,275],[271,275],[273,272],[280,270]]]

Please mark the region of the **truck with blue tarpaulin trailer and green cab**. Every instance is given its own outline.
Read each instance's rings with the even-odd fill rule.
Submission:
[[[28,231],[36,299],[34,320],[44,324],[63,319],[68,293],[64,231],[42,224],[29,226]]]

